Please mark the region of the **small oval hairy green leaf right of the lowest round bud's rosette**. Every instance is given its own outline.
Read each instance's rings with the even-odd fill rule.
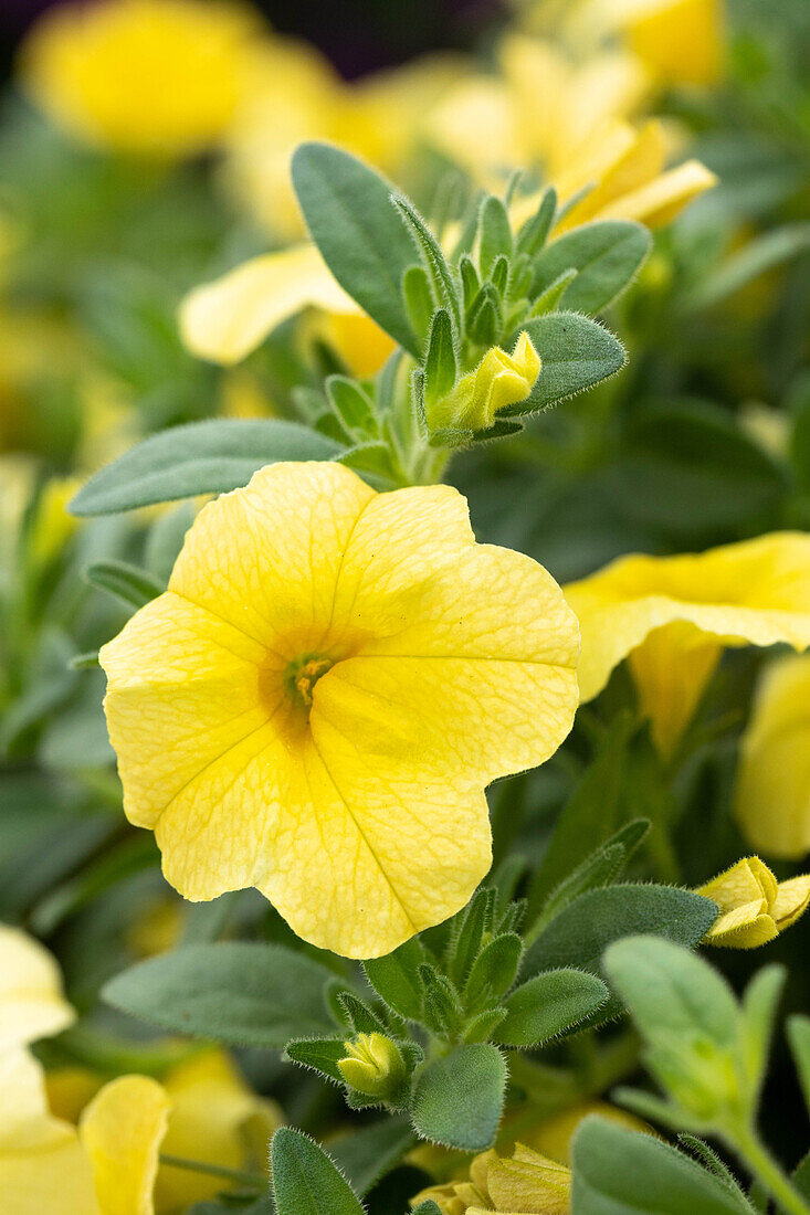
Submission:
[[[538,1046],[573,1029],[603,1004],[609,991],[585,971],[546,971],[504,1001],[506,1018],[493,1033],[505,1046]]]

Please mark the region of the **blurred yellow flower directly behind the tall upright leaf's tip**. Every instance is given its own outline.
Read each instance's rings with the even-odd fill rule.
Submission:
[[[426,112],[465,70],[461,57],[435,55],[347,83],[305,43],[266,40],[229,132],[225,187],[274,236],[297,241],[305,233],[289,176],[298,143],[339,143],[396,177]]]

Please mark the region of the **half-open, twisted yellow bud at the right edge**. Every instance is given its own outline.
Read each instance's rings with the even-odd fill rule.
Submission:
[[[774,940],[806,911],[810,874],[777,882],[759,857],[744,857],[697,893],[713,899],[720,909],[707,943],[753,949]]]

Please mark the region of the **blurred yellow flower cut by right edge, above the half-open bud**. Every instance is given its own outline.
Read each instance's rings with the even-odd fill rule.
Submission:
[[[752,847],[772,857],[810,852],[810,657],[766,672],[742,739],[735,812]]]

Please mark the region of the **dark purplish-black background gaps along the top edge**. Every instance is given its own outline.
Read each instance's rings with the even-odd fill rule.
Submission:
[[[45,9],[64,0],[0,0],[0,74]],[[84,0],[92,4],[94,0]],[[343,75],[403,63],[421,51],[466,49],[504,7],[502,0],[257,0],[274,29],[297,34],[328,55]]]

